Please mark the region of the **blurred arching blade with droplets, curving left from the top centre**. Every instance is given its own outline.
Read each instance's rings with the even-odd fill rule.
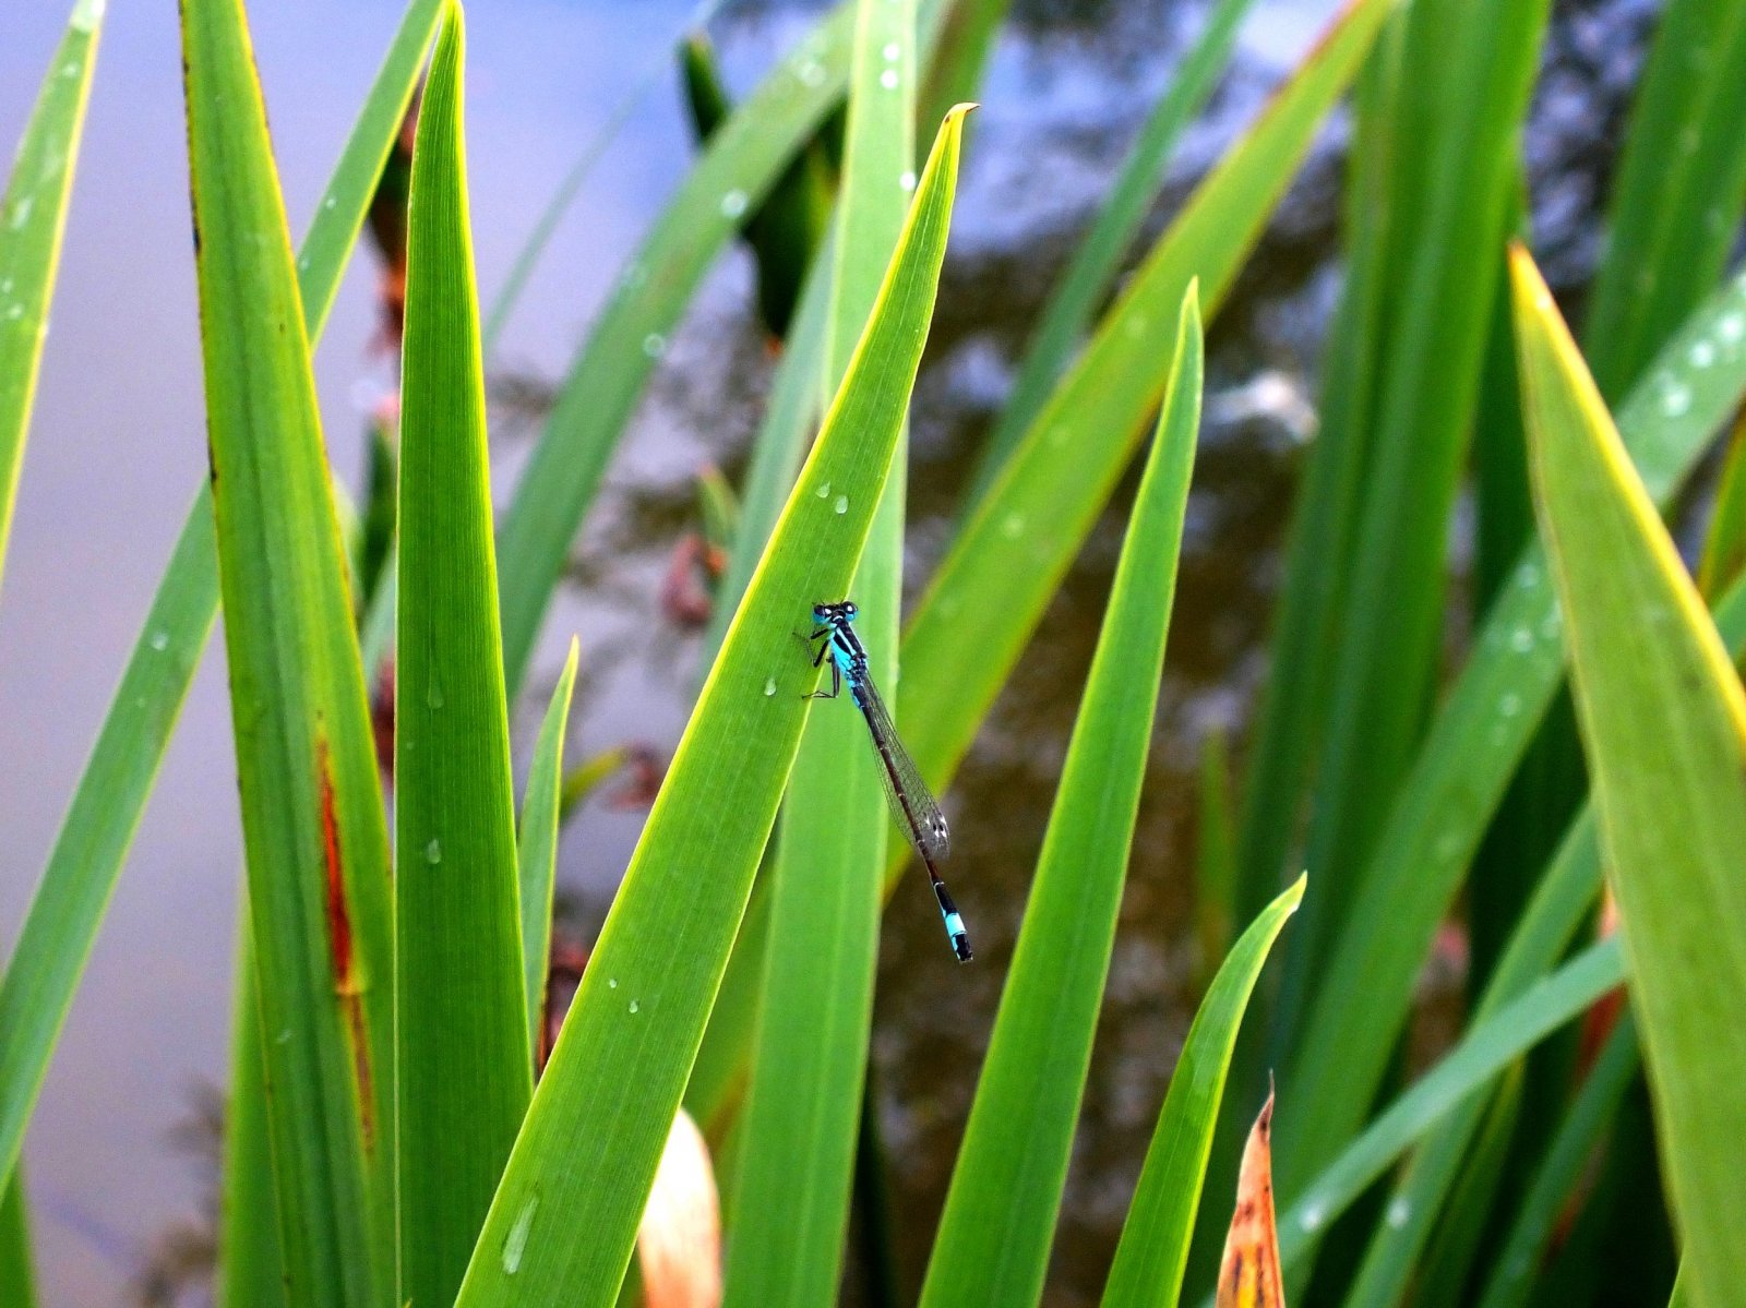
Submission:
[[[828,17],[711,138],[588,334],[498,533],[513,697],[601,473],[716,255],[843,94],[852,9]],[[653,344],[653,348],[651,348]]]

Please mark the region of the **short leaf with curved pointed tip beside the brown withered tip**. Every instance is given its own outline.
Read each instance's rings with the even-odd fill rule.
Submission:
[[[1175,1305],[1194,1235],[1194,1210],[1206,1181],[1206,1154],[1219,1119],[1219,1102],[1231,1067],[1231,1050],[1243,1009],[1268,952],[1297,905],[1304,878],[1280,892],[1233,947],[1201,1001],[1170,1074],[1170,1091],[1145,1167],[1128,1205],[1116,1261],[1103,1287],[1105,1308]]]

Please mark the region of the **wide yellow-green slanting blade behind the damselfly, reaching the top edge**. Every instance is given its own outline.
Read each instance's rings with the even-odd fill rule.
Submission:
[[[1170,363],[1158,325],[1191,278],[1206,313],[1224,297],[1390,9],[1360,0],[1348,10],[1201,183],[941,561],[904,636],[897,693],[897,723],[932,786],[964,758],[1144,435]]]

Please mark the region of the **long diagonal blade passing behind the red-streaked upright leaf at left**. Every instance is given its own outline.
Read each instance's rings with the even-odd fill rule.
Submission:
[[[407,7],[316,206],[297,260],[311,339],[321,334],[382,159],[400,131],[438,9],[438,0],[414,0]],[[49,1057],[217,611],[211,492],[201,478],[0,983],[0,1174],[17,1158]]]

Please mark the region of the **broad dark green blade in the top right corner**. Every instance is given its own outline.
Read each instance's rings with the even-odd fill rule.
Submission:
[[[1671,0],[1631,107],[1587,321],[1617,400],[1727,264],[1746,203],[1746,7]]]

